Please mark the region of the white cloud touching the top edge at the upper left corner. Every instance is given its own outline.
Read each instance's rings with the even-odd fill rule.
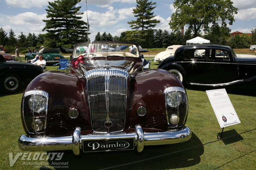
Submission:
[[[5,0],[6,4],[15,8],[35,8],[43,7],[48,5],[48,1],[52,2],[54,0]]]

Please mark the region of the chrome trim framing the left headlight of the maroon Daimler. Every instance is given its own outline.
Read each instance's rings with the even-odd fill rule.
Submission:
[[[23,110],[22,110],[22,115],[23,115],[23,120],[25,122],[25,127],[26,127],[26,130],[29,132],[27,126],[26,126],[26,121],[25,121],[25,117],[24,117],[24,99],[26,96],[29,96],[29,95],[34,95],[34,98],[35,98],[35,95],[41,95],[41,96],[44,96],[46,98],[46,108],[45,108],[45,121],[44,121],[44,129],[46,128],[46,122],[47,122],[47,111],[48,111],[48,99],[49,99],[49,94],[46,92],[46,91],[41,91],[41,90],[32,90],[32,91],[27,91],[24,96],[23,96]],[[34,99],[34,102],[35,102],[35,99]],[[34,104],[33,104],[34,105]],[[34,110],[33,110],[33,122],[35,123],[35,120],[34,120]],[[36,130],[35,130],[35,133],[36,133]]]

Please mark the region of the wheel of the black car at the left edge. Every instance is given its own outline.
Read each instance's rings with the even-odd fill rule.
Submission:
[[[15,93],[20,88],[20,78],[15,74],[10,74],[1,79],[2,91],[4,93]]]

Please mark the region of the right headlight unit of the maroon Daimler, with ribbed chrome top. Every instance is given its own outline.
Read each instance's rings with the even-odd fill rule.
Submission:
[[[170,87],[164,91],[166,116],[170,127],[183,127],[188,113],[188,102],[185,89]]]

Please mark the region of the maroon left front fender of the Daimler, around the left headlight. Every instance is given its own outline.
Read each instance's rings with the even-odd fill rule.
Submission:
[[[77,126],[83,130],[90,130],[87,103],[84,99],[83,79],[63,72],[46,72],[33,79],[24,94],[31,90],[41,90],[49,94],[44,135],[73,133]],[[79,111],[79,116],[75,119],[71,119],[69,116],[68,111],[71,108],[76,108]],[[21,116],[23,117],[22,113]],[[26,133],[28,134],[28,132]]]

